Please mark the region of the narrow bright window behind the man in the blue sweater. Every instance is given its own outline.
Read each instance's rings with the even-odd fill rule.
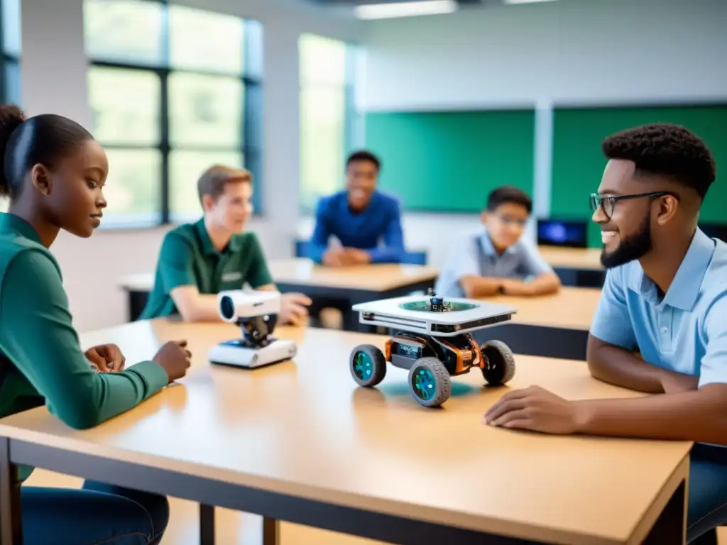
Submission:
[[[300,203],[310,212],[318,198],[343,186],[353,145],[356,50],[334,39],[304,34],[300,55]]]

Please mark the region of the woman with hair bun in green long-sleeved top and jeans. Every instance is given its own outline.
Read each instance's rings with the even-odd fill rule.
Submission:
[[[91,134],[53,115],[24,120],[0,106],[0,417],[46,404],[68,426],[94,427],[185,375],[186,343],[124,369],[114,344],[84,354],[60,267],[49,252],[61,229],[87,238],[106,201],[106,156]],[[94,267],[88,256],[89,267]],[[104,274],[99,269],[99,274]],[[100,371],[100,372],[99,372]],[[32,468],[20,467],[22,480]],[[21,488],[23,543],[157,544],[169,520],[164,496],[87,481],[81,490]]]

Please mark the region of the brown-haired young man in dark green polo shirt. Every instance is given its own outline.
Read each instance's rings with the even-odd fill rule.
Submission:
[[[257,235],[243,233],[252,214],[252,174],[212,166],[197,187],[204,215],[166,233],[140,320],[177,313],[187,321],[222,320],[218,292],[241,289],[245,283],[256,290],[276,290]],[[294,293],[281,297],[281,323],[304,323],[310,299]]]

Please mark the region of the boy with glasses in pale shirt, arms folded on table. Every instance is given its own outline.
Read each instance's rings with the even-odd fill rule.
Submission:
[[[476,298],[558,291],[558,275],[522,238],[532,208],[530,197],[517,187],[492,190],[481,214],[485,228],[454,244],[437,279],[437,294]]]

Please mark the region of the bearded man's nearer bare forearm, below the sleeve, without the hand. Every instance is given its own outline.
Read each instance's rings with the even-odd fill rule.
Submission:
[[[584,435],[727,445],[727,384],[635,399],[574,402]]]

